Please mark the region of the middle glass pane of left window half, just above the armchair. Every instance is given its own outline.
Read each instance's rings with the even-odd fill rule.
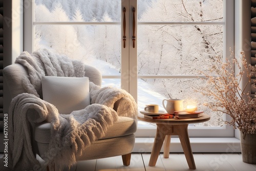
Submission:
[[[120,75],[120,34],[117,25],[36,25],[34,50],[52,49],[97,67],[102,75]]]

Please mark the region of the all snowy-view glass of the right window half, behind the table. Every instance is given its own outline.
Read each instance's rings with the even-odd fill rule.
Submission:
[[[223,126],[222,113],[214,113],[203,105],[206,102],[214,102],[213,99],[194,91],[196,87],[206,86],[206,81],[200,78],[182,77],[201,75],[201,71],[214,74],[209,73],[209,69],[216,65],[216,56],[223,57],[225,48],[223,4],[222,0],[145,0],[138,3],[140,110],[144,110],[144,105],[148,103],[157,103],[162,110],[163,99],[179,98],[185,100],[184,106],[197,105],[198,110],[211,116],[210,121],[195,126]],[[157,22],[166,22],[166,24],[157,24]],[[156,76],[145,78],[143,75]],[[176,76],[176,78],[163,79],[158,78],[157,75]],[[181,77],[177,78],[179,75]]]

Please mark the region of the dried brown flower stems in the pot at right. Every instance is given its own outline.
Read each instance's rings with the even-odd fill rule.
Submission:
[[[217,73],[218,77],[205,75],[207,78],[207,87],[199,88],[198,91],[205,96],[213,97],[215,103],[207,103],[206,105],[213,111],[222,112],[231,117],[230,121],[225,121],[230,124],[234,129],[242,131],[244,136],[246,134],[256,133],[256,98],[251,98],[250,93],[245,94],[246,87],[250,86],[252,73],[256,72],[255,67],[249,65],[244,52],[241,52],[239,62],[234,58],[233,52],[232,62],[228,60],[222,62],[220,57],[217,57],[216,66],[211,70],[211,73]],[[238,74],[234,74],[231,63],[238,68]],[[240,66],[242,64],[243,68]],[[243,89],[241,89],[242,77],[246,73],[248,81]]]

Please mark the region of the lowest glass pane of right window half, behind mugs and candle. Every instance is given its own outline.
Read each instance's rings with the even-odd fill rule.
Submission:
[[[195,124],[196,126],[222,126],[223,114],[212,112],[203,105],[212,102],[211,97],[194,91],[196,87],[204,87],[205,82],[204,79],[138,79],[139,110],[144,110],[145,104],[158,104],[159,110],[164,110],[163,99],[184,99],[184,107],[193,104],[198,106],[199,111],[211,116],[208,122]]]

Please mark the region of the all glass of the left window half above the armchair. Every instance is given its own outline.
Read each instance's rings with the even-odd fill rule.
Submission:
[[[120,75],[121,1],[35,0],[35,22],[102,22],[100,25],[34,24],[33,50],[47,48],[84,61],[102,75]]]

